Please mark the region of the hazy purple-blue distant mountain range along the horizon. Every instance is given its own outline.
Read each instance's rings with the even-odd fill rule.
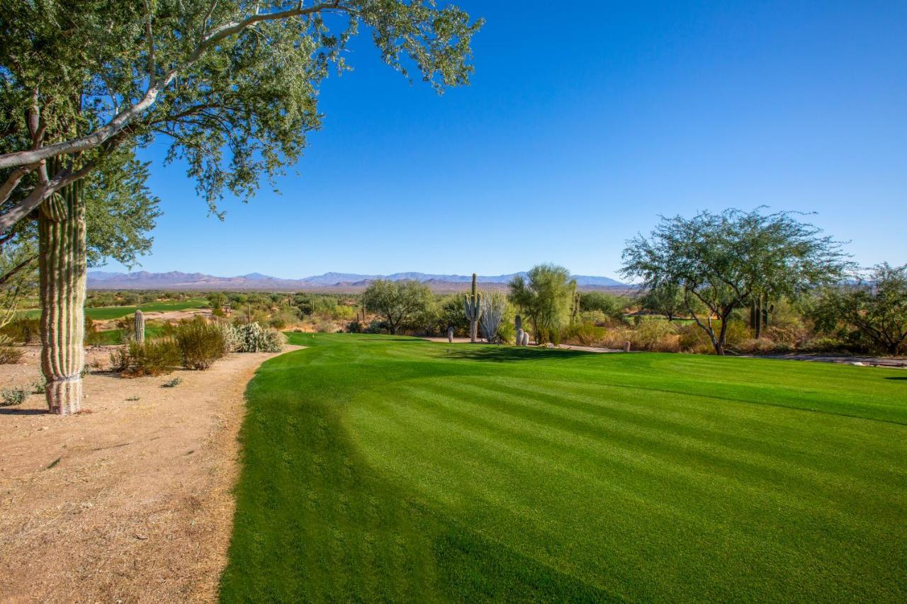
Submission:
[[[502,287],[517,275],[480,276],[477,280],[486,285]],[[414,279],[428,284],[433,289],[445,291],[460,289],[470,283],[472,275],[432,275],[428,273],[394,273],[393,275],[360,275],[358,273],[325,273],[300,279],[284,279],[249,273],[239,277],[214,277],[202,273],[150,273],[139,270],[134,273],[112,273],[102,270],[88,272],[89,289],[257,289],[257,290],[323,290],[357,291],[365,288],[378,278],[398,281]],[[585,289],[626,288],[623,283],[607,277],[574,275],[577,285]]]

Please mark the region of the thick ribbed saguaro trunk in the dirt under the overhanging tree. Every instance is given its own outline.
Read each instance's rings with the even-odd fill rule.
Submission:
[[[73,414],[82,407],[85,303],[85,200],[78,180],[41,204],[41,369],[47,407]]]

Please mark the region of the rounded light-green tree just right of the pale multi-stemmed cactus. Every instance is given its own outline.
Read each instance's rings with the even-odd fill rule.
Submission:
[[[523,278],[510,282],[508,297],[532,323],[536,344],[556,341],[568,324],[575,284],[570,271],[554,264],[541,264]]]

